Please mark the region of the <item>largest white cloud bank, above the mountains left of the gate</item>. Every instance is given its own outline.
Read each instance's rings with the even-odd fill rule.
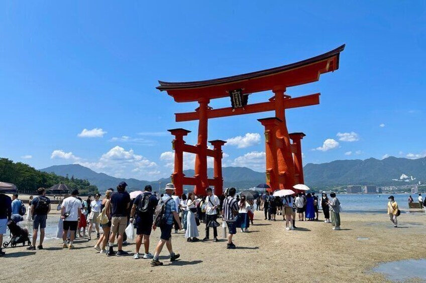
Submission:
[[[155,179],[163,177],[157,163],[136,154],[133,149],[115,146],[102,154],[96,162],[76,162],[97,172],[119,178]]]

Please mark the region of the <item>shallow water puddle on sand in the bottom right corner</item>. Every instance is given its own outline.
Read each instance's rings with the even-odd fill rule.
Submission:
[[[391,281],[405,281],[414,278],[426,281],[426,259],[385,262],[373,268],[372,271],[383,273]]]

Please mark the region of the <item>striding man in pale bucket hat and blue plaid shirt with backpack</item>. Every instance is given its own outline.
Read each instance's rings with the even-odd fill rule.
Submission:
[[[176,220],[179,230],[182,229],[182,224],[180,223],[179,215],[177,214],[176,203],[172,198],[175,187],[173,184],[169,183],[166,185],[165,190],[166,193],[155,208],[154,224],[152,225],[154,230],[158,226],[161,230],[160,241],[155,248],[154,258],[151,261],[151,265],[153,266],[163,265],[163,263],[159,260],[159,256],[164,244],[166,244],[167,249],[170,252],[170,261],[175,261],[180,256],[179,253],[173,252],[172,247],[173,218]]]

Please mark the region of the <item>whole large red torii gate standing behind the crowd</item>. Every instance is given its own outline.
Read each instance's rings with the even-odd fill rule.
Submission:
[[[214,149],[207,148],[208,119],[266,111],[275,111],[274,117],[258,120],[265,127],[266,182],[272,191],[291,189],[294,184],[303,183],[301,139],[305,134],[288,133],[285,109],[319,104],[320,94],[291,98],[284,93],[287,87],[318,81],[321,74],[339,69],[339,57],[344,49],[345,45],[342,45],[335,50],[297,63],[232,77],[180,83],[159,81],[160,86],[157,89],[167,91],[176,102],[196,101],[199,104],[195,112],[175,114],[176,122],[199,121],[196,145],[187,145],[183,140],[190,131],[169,130],[175,137],[172,142],[175,150],[172,182],[177,193],[183,192],[184,185],[194,185],[196,195],[204,195],[208,186],[215,186],[216,194],[222,194],[222,146],[226,142],[209,141]],[[240,108],[212,109],[208,106],[210,99],[229,97],[230,93],[236,90],[241,93],[240,98],[242,95],[268,90],[272,90],[274,96],[268,102],[243,107],[239,105]],[[183,152],[196,154],[194,177],[186,177],[183,174]],[[207,156],[215,160],[214,179],[207,177]]]

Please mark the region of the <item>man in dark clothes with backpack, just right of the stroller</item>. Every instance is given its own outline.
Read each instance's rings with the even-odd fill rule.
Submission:
[[[31,215],[33,215],[33,242],[28,250],[36,249],[37,233],[40,227],[40,244],[38,249],[43,249],[44,228],[46,228],[47,214],[50,211],[50,199],[46,196],[45,188],[38,188],[38,196],[31,203]]]

